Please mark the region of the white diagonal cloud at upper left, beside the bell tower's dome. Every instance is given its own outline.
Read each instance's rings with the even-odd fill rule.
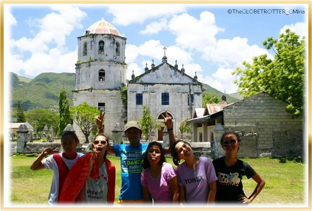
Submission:
[[[51,12],[42,19],[35,20],[40,27],[36,36],[34,38],[22,37],[19,40],[8,40],[9,47],[16,47],[20,51],[42,53],[49,50],[47,47],[49,43],[56,43],[58,47],[64,46],[66,36],[70,35],[75,28],[82,28],[80,21],[87,14],[78,7],[72,7],[70,4],[51,4],[49,7],[58,13]]]

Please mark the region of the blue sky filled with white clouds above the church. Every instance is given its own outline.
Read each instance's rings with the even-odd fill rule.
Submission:
[[[292,14],[235,14],[234,9]],[[160,64],[165,46],[169,63],[177,60],[188,75],[196,71],[198,81],[227,93],[236,92],[231,72],[242,61],[273,56],[262,47],[267,37],[286,28],[308,36],[304,4],[9,4],[6,71],[32,78],[75,72],[77,37],[102,17],[127,38],[127,79],[132,70],[143,73],[145,63],[150,68],[152,59]]]

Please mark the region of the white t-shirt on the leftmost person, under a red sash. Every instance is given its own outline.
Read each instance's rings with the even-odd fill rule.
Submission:
[[[61,158],[64,160],[65,164],[69,169],[76,163],[76,161],[84,156],[85,154],[82,153],[77,153],[77,156],[75,159],[69,160],[63,157],[63,153],[59,153]],[[49,193],[49,207],[57,207],[57,202],[58,202],[58,194],[59,194],[59,170],[58,166],[56,164],[56,161],[53,159],[53,155],[50,155],[46,159],[43,160],[43,164],[46,167],[46,169],[52,169],[53,170],[53,179],[52,179],[52,184],[51,184],[51,190]]]

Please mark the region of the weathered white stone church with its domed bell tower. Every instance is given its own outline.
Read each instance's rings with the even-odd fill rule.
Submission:
[[[181,121],[191,117],[190,107],[201,108],[202,83],[197,81],[196,73],[194,77],[188,76],[183,65],[178,69],[177,62],[174,66],[169,64],[164,51],[161,64],[155,66],[153,62],[140,76],[132,74],[127,84],[126,71],[132,70],[127,70],[125,63],[125,45],[126,38],[103,18],[78,37],[74,106],[86,102],[105,111],[105,133],[109,138],[116,123],[123,128],[126,121],[141,118],[143,106],[149,106],[159,121],[163,121],[161,114],[167,110],[178,136]],[[124,86],[128,86],[127,110],[121,100],[120,91]],[[75,124],[74,128],[82,141],[84,135],[80,128]],[[152,131],[151,135],[154,140],[163,138],[162,130]]]

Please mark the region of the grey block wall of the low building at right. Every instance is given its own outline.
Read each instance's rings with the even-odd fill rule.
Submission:
[[[293,119],[292,114],[285,111],[287,105],[285,101],[261,92],[224,108],[224,125],[254,128],[258,134],[258,156],[263,153],[273,156],[303,155],[303,117]],[[277,150],[280,142],[293,144],[285,145],[287,150]],[[294,145],[301,146],[301,151],[291,150]]]

